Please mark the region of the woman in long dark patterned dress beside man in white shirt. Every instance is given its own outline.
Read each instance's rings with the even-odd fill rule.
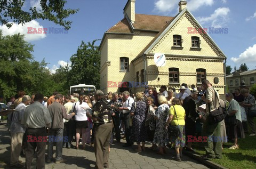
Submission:
[[[131,108],[131,116],[133,116],[131,139],[133,142],[137,142],[138,148],[135,149],[135,151],[138,152],[141,152],[142,150],[145,151],[145,141],[147,136],[147,129],[145,125],[147,105],[145,101],[142,101],[142,99],[143,93],[136,93],[137,101],[132,103]],[[142,142],[142,147],[140,142]]]

